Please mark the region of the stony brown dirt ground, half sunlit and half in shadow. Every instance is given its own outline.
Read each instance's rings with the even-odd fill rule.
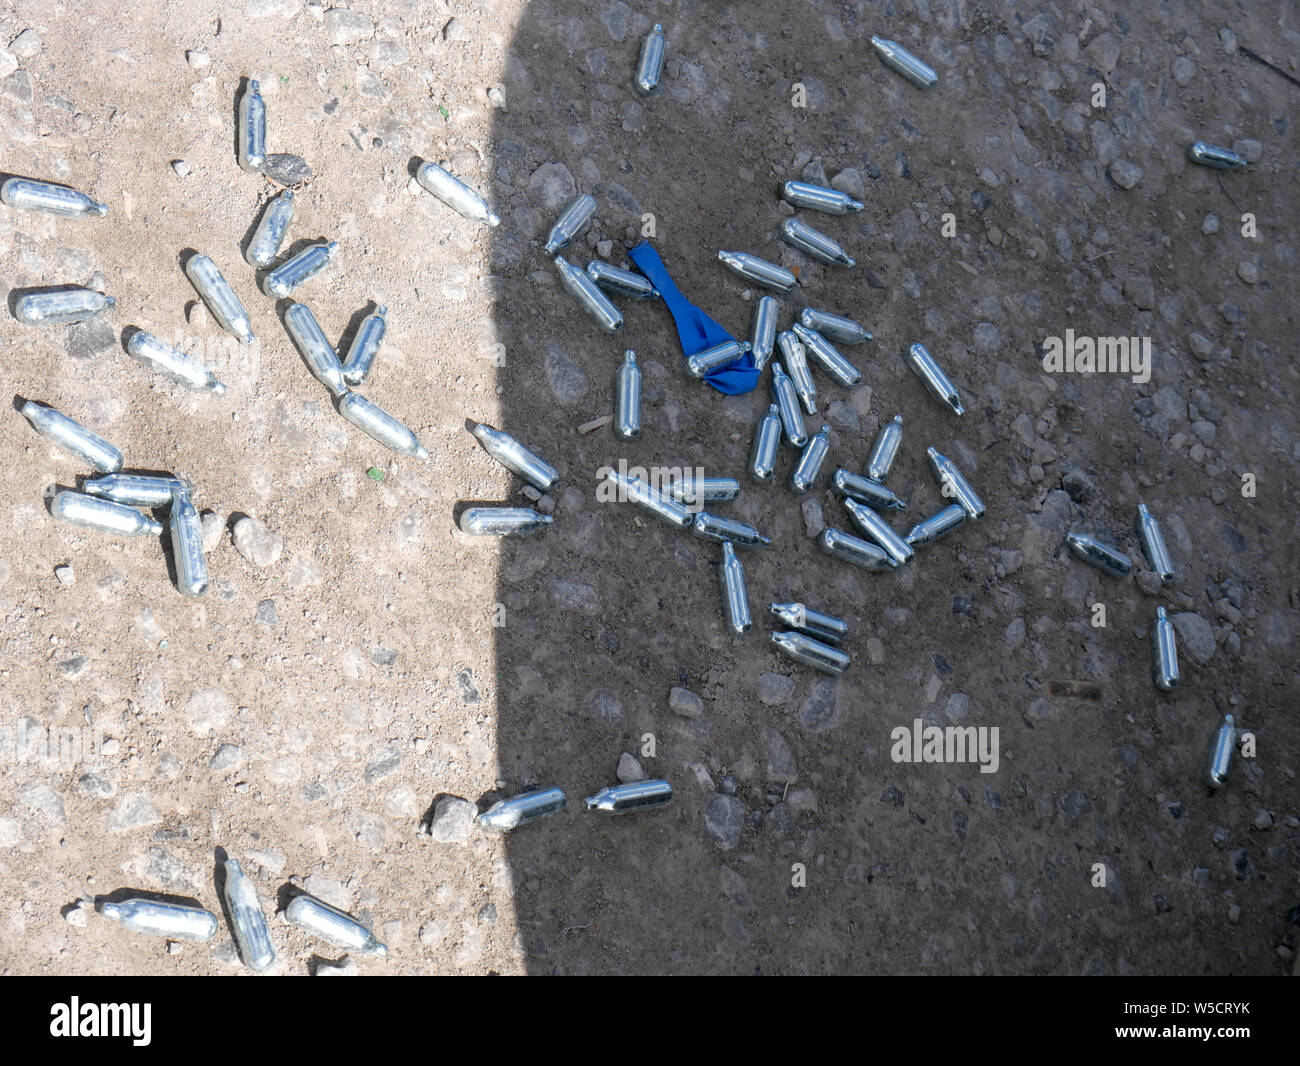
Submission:
[[[632,72],[655,21],[663,91],[644,99]],[[6,313],[0,385],[130,467],[185,473],[216,516],[212,588],[190,601],[165,541],[53,521],[47,489],[87,471],[16,411],[0,419],[0,967],[247,972],[225,926],[177,950],[78,906],[133,889],[220,913],[222,848],[268,913],[298,885],[370,924],[390,953],[363,974],[1290,972],[1297,29],[1286,3],[0,8],[0,168],[109,205],[101,220],[0,207],[6,306],[61,283],[117,300],[79,326]],[[872,34],[939,84],[884,68]],[[341,246],[295,298],[344,346],[389,308],[363,391],[419,433],[428,464],[332,410],[242,259],[277,191],[235,162],[244,77],[266,99],[269,151],[315,172],[290,240]],[[1193,166],[1197,139],[1247,142],[1257,161]],[[500,226],[420,190],[420,160],[484,190]],[[861,214],[798,212],[855,268],[781,244],[776,191],[801,176],[861,188]],[[745,476],[766,380],[724,398],[685,374],[662,304],[623,302],[610,337],[559,287],[542,243],[578,192],[599,211],[575,263],[625,261],[653,222],[684,292],[738,337],[758,292],[720,248],[797,268],[783,328],[807,304],[872,330],[844,350],[858,389],[818,374],[833,442],[814,493],[790,490],[784,446],[771,484]],[[251,351],[191,307],[191,250],[251,312]],[[196,341],[226,395],[135,363],[129,326]],[[1043,346],[1066,330],[1150,338],[1149,381],[1045,373]],[[905,367],[918,341],[963,417]],[[624,348],[645,372],[632,445],[577,432],[611,412]],[[862,469],[894,413],[889,484],[910,506],[893,526],[946,502],[930,445],[988,514],[898,573],[866,573],[818,550],[801,504],[850,529],[828,476]],[[547,532],[455,529],[467,500],[529,503],[467,419],[559,468]],[[774,541],[741,552],[749,634],[723,627],[716,545],[598,502],[597,472],[620,459],[742,480],[719,511]],[[1140,500],[1176,563],[1164,590],[1063,547],[1088,529],[1140,559]],[[278,555],[273,537],[256,559],[237,549],[244,515]],[[771,645],[774,599],[850,623],[841,679]],[[1157,604],[1179,616],[1169,696],[1150,680]],[[1100,698],[1053,694],[1061,680]],[[675,686],[702,697],[694,716],[670,708]],[[1228,711],[1257,757],[1212,793]],[[918,718],[997,727],[997,771],[894,762],[890,732]],[[79,746],[38,758],[18,744],[32,728]],[[624,753],[672,781],[670,809],[582,810]],[[482,807],[533,785],[563,788],[568,810],[504,837],[421,831],[439,798]],[[272,930],[276,972],[338,956],[281,916]]]

